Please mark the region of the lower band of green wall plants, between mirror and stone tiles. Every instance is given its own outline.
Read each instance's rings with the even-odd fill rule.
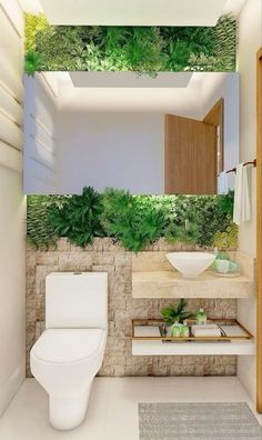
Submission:
[[[84,188],[82,196],[29,196],[28,240],[39,249],[56,247],[59,237],[84,248],[95,237],[111,237],[138,252],[161,237],[222,249],[238,246],[232,222],[233,194],[131,196]]]

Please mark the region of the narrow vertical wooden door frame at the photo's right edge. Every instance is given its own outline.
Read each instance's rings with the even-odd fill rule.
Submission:
[[[262,48],[256,53],[256,411],[262,413]]]

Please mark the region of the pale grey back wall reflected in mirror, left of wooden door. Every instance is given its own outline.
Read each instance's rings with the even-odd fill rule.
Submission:
[[[59,113],[59,192],[114,187],[163,193],[163,114]]]

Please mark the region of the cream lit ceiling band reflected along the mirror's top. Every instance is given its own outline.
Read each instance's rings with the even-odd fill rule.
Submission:
[[[88,72],[84,72],[84,74],[88,77]],[[172,74],[175,78],[175,73]],[[181,116],[192,114],[193,117],[199,110],[202,89],[206,87],[206,94],[212,93],[215,88],[220,87],[221,82],[226,80],[228,76],[238,77],[238,73],[195,72],[192,74],[188,87],[183,88],[77,88],[67,72],[49,72],[46,80],[50,81],[50,87],[58,96],[59,106],[64,109],[74,109],[75,111],[178,112]]]

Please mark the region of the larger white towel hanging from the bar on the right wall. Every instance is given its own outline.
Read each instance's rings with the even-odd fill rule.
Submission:
[[[234,216],[233,222],[241,224],[244,221],[250,221],[250,193],[246,167],[243,163],[238,164],[235,174],[235,190],[234,190]]]

